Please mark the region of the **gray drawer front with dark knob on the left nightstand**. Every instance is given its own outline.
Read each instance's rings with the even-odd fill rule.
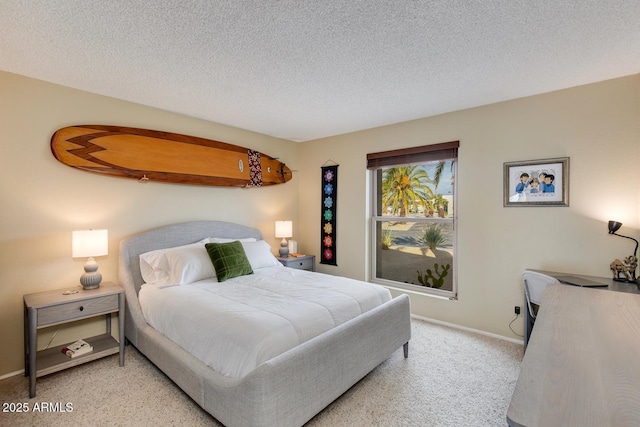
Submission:
[[[118,295],[106,295],[99,298],[72,301],[39,309],[38,326],[114,311],[118,311]]]

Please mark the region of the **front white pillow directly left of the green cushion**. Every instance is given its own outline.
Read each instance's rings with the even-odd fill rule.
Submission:
[[[184,284],[189,281],[202,280],[215,275],[211,274],[213,267],[207,255],[205,243],[209,239],[174,248],[158,249],[140,255],[140,273],[145,283],[168,285]],[[202,260],[208,264],[203,263]],[[193,264],[193,265],[188,265]],[[204,264],[204,265],[203,265]],[[211,271],[207,270],[211,268]],[[195,280],[191,280],[195,279]]]

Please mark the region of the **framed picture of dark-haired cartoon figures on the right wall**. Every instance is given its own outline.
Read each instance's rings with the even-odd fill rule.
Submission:
[[[505,162],[504,206],[569,206],[569,158]]]

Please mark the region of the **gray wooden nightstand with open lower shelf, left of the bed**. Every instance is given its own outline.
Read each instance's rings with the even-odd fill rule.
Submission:
[[[124,311],[124,289],[110,282],[97,289],[75,287],[25,295],[24,374],[29,377],[29,397],[35,397],[36,378],[43,375],[115,353],[120,353],[120,366],[124,366]],[[118,313],[120,342],[111,335],[111,313]],[[37,351],[38,329],[95,316],[106,316],[107,330],[83,338],[93,346],[92,352],[70,358],[62,353],[70,343]]]

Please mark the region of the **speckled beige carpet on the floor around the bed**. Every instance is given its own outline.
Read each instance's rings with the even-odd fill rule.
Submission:
[[[399,349],[307,426],[505,426],[522,346],[415,319],[412,331],[408,359]],[[36,391],[29,399],[22,375],[0,381],[3,409],[30,408],[0,412],[0,425],[220,425],[131,346],[122,368],[114,355],[39,378]]]

